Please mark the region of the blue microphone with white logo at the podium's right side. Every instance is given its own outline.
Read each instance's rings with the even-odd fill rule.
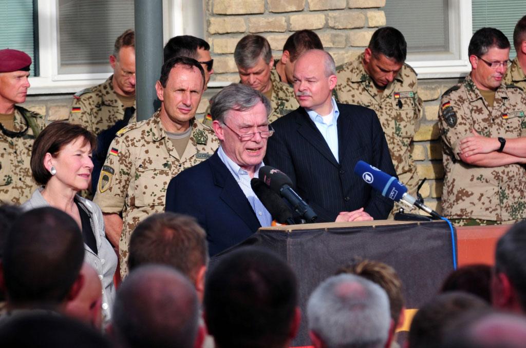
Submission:
[[[358,161],[358,163],[356,163],[355,174],[361,176],[363,181],[371,185],[376,191],[380,192],[382,196],[391,198],[395,202],[403,203],[410,209],[417,207],[434,218],[442,218],[433,209],[420,201],[417,201],[416,198],[408,194],[407,187],[399,182],[396,177],[384,173],[378,168],[363,161]]]

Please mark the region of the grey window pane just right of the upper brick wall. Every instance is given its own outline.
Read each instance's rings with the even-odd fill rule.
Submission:
[[[448,0],[387,0],[386,24],[400,30],[408,52],[449,51]]]

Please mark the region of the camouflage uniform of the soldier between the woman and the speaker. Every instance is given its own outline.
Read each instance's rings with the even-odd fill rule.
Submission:
[[[117,132],[100,172],[94,202],[104,213],[123,214],[119,241],[120,273],[127,273],[131,232],[147,216],[164,212],[166,187],[179,172],[214,154],[219,146],[213,131],[193,122],[183,156],[166,139],[159,111],[149,120]],[[196,183],[198,184],[198,183]]]

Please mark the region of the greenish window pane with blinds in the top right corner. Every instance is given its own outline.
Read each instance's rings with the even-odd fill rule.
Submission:
[[[510,58],[516,53],[513,48],[513,29],[526,15],[524,0],[472,0],[473,33],[483,27],[497,28],[510,40]]]

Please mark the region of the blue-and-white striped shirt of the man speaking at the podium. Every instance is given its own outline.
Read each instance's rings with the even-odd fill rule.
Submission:
[[[219,149],[217,150],[217,155],[219,156],[221,161],[225,163],[228,170],[230,171],[232,176],[234,176],[234,179],[241,188],[241,191],[243,191],[243,193],[247,197],[248,202],[252,207],[252,210],[254,210],[254,213],[256,213],[261,227],[270,226],[272,224],[272,216],[270,216],[270,213],[268,212],[267,208],[265,208],[265,206],[263,205],[263,203],[261,203],[254,191],[252,191],[252,187],[250,186],[251,177],[250,175],[248,175],[248,172],[242,169],[237,163],[230,160],[230,158],[226,155],[225,151],[223,151],[223,148],[221,146],[219,146]],[[265,164],[261,162],[256,166],[254,177],[259,177],[259,168],[261,168],[264,165]]]

